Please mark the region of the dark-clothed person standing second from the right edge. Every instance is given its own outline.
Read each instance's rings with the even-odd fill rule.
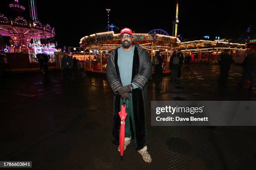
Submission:
[[[218,63],[220,64],[220,77],[218,80],[219,85],[226,85],[228,80],[228,72],[230,65],[234,63],[234,58],[228,54],[228,49],[225,49],[219,57]]]

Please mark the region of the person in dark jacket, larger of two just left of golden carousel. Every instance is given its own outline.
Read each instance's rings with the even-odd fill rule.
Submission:
[[[68,55],[64,55],[61,60],[61,70],[63,70],[64,81],[67,83],[72,78],[73,60]]]

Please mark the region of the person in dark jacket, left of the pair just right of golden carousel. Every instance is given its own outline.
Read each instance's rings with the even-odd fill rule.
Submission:
[[[172,56],[170,57],[169,61],[169,68],[171,70],[171,82],[175,82],[177,80],[177,75],[178,75],[178,68],[179,68],[179,57],[174,51],[172,53]]]

